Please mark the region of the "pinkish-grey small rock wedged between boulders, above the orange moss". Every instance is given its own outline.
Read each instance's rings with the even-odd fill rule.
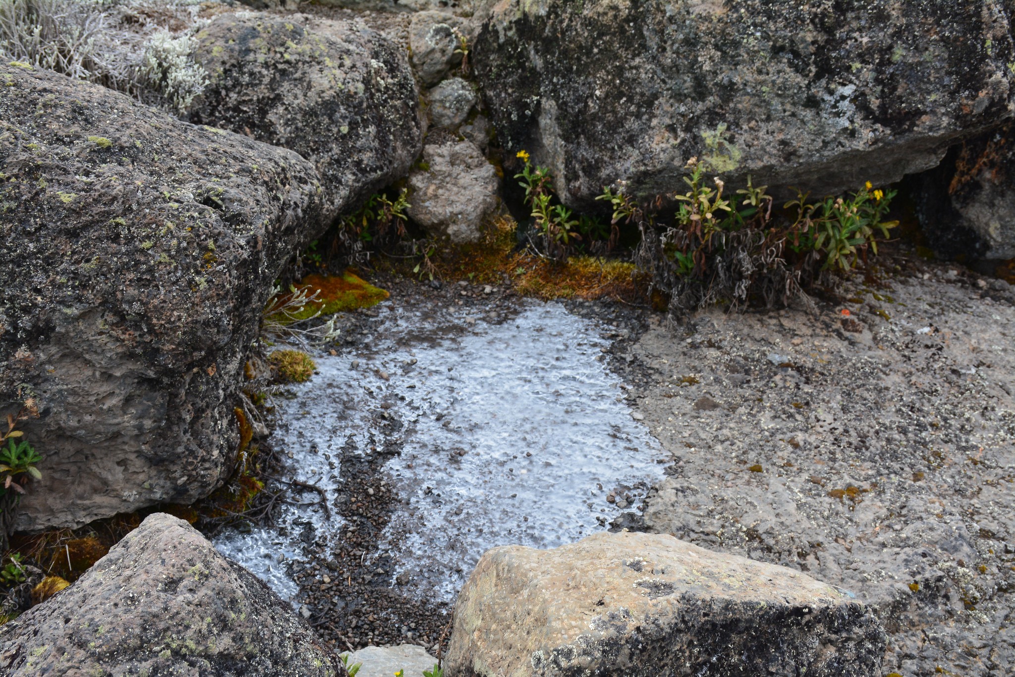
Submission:
[[[496,209],[498,185],[496,170],[471,142],[427,145],[422,166],[409,175],[408,213],[434,234],[476,242]]]

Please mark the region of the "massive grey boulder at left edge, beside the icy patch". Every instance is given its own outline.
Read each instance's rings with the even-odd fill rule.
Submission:
[[[206,495],[233,469],[261,308],[322,226],[314,166],[0,65],[0,415],[35,397],[16,527]]]

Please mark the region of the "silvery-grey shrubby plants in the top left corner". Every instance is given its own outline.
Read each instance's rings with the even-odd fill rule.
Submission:
[[[194,62],[197,0],[0,0],[0,58],[185,113],[207,84]]]

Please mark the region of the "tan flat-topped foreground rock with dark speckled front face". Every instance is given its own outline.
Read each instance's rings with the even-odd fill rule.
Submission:
[[[500,675],[880,677],[885,634],[849,593],[672,536],[493,548],[455,606],[446,670]]]

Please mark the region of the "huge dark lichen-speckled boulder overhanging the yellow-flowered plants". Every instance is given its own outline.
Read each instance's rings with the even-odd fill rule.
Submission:
[[[618,180],[672,192],[692,156],[733,181],[856,190],[1011,115],[1002,0],[489,4],[470,59],[498,138],[571,205]]]

